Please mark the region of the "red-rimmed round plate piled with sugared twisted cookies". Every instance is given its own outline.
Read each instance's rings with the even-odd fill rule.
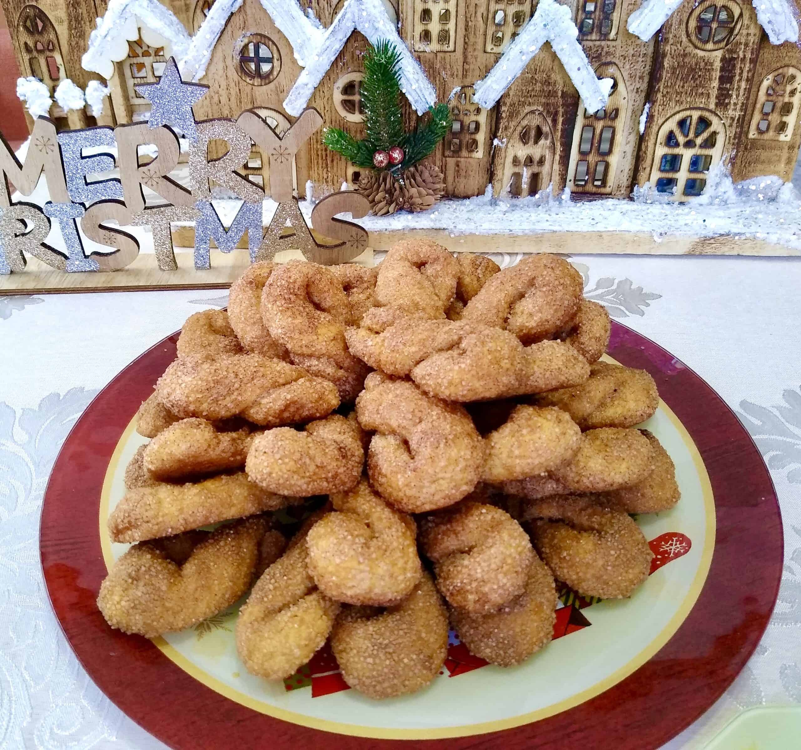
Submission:
[[[747,432],[565,259],[255,263],[76,423],[42,568],[173,748],[658,748],[759,642]],[[326,732],[326,734],[321,734]]]

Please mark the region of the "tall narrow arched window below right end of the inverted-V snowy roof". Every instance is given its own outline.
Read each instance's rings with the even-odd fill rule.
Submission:
[[[614,190],[614,175],[620,164],[629,94],[620,68],[606,62],[595,69],[598,78],[614,81],[606,107],[588,112],[579,102],[567,186],[576,193],[609,195]]]

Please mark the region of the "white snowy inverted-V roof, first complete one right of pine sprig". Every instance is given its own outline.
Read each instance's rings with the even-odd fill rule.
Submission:
[[[560,5],[556,0],[540,0],[537,10],[521,33],[506,48],[501,59],[495,63],[483,81],[476,82],[473,99],[488,110],[495,106],[497,100],[523,72],[531,58],[539,52],[541,46],[545,42],[550,42],[550,46],[562,61],[570,80],[578,90],[586,110],[596,112],[602,109],[609,98],[612,79],[598,80],[577,37],[578,29],[573,22],[570,7]]]

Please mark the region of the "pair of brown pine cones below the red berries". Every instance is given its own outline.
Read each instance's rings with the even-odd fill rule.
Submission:
[[[389,172],[368,172],[359,179],[358,190],[370,201],[376,216],[405,210],[428,211],[445,195],[445,177],[433,164],[416,164],[404,170],[404,184]]]

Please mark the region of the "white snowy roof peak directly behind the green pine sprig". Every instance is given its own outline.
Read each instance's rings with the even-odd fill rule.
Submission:
[[[372,44],[380,39],[387,39],[396,46],[400,51],[400,90],[406,94],[417,114],[427,112],[437,101],[437,92],[426,78],[420,63],[398,35],[396,25],[389,18],[381,0],[345,0],[342,10],[325,30],[295,86],[292,86],[284,99],[284,109],[295,117],[304,110],[336,55],[340,54],[345,42],[356,30],[364,34]]]

